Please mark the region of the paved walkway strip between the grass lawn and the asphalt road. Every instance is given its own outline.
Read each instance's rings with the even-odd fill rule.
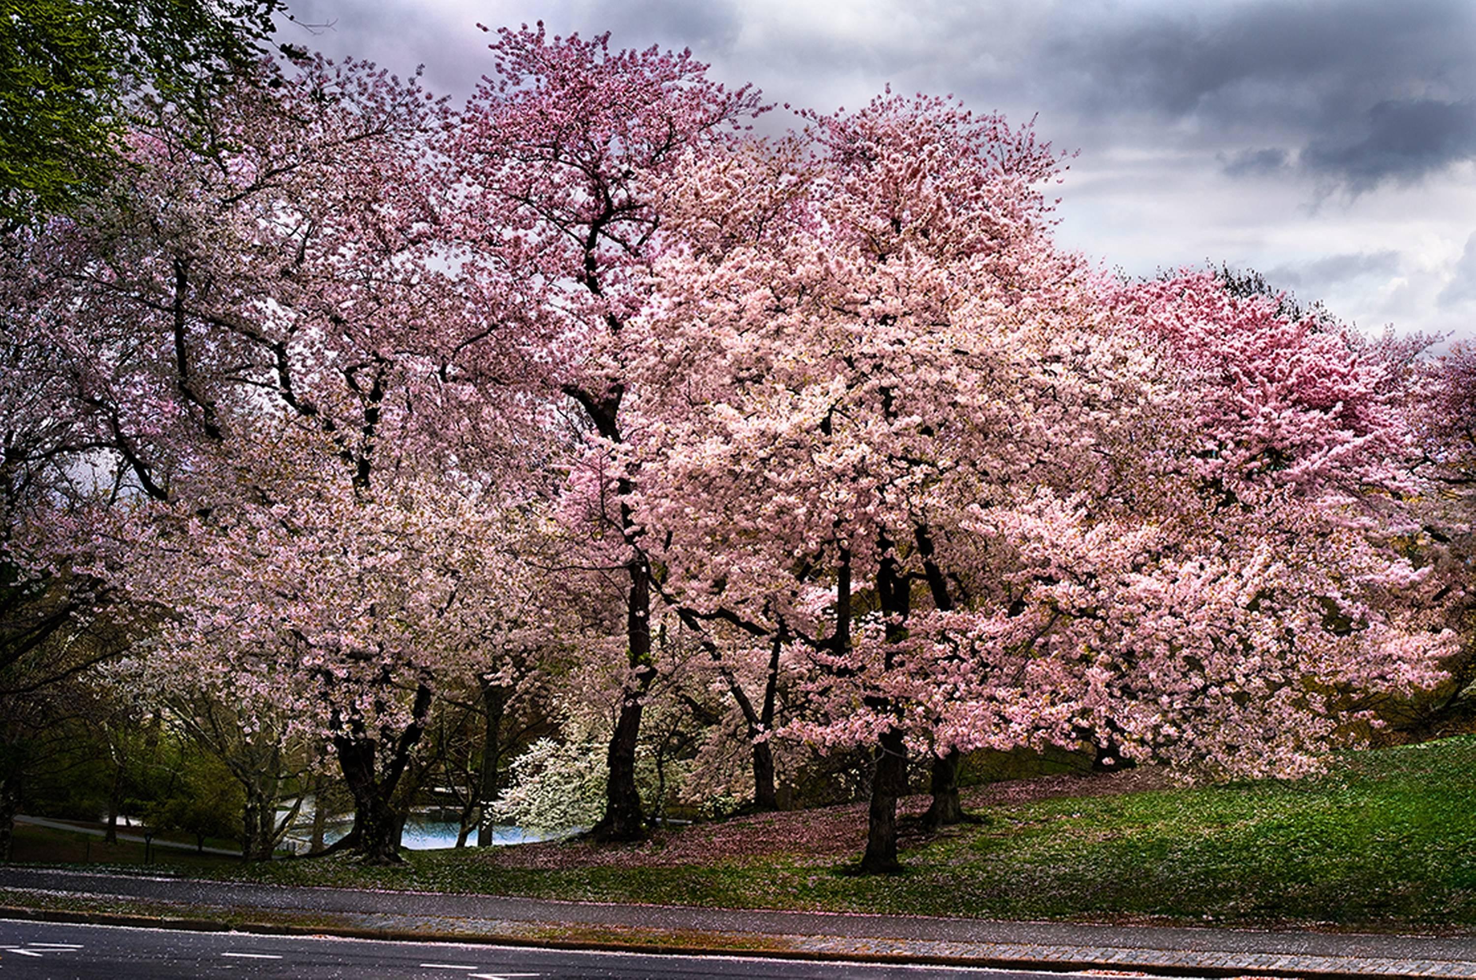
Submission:
[[[1114,970],[1178,976],[1476,979],[1476,937],[1272,933],[1145,925],[834,915],[549,902],[497,896],[289,888],[0,866],[4,915],[89,918],[89,900],[196,928],[229,915],[261,931],[552,946],[748,950],[838,959]],[[69,915],[38,911],[58,903]],[[81,911],[80,911],[81,909]]]

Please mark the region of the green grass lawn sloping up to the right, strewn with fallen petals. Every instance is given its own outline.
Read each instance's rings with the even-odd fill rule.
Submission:
[[[644,866],[641,849],[613,865],[537,871],[499,866],[496,852],[441,850],[407,852],[403,868],[328,858],[211,874],[729,908],[1464,931],[1476,928],[1473,809],[1476,736],[1461,736],[1346,753],[1302,782],[999,807],[982,827],[906,850],[906,871],[881,878],[785,853]],[[803,832],[803,815],[793,819]]]

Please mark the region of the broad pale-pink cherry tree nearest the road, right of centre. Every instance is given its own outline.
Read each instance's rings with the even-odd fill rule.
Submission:
[[[1027,128],[887,96],[809,137],[670,184],[627,466],[673,605],[793,636],[790,731],[875,747],[863,869],[909,741],[1294,773],[1320,683],[1433,676],[1365,595],[1418,580],[1356,517],[1401,486],[1377,359],[1209,276],[1119,295],[1051,248]]]

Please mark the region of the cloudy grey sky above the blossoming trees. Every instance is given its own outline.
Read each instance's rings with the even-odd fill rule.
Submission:
[[[1370,331],[1476,337],[1472,0],[292,0],[280,40],[458,99],[477,30],[542,19],[691,47],[726,83],[821,111],[890,83],[953,93],[1079,151],[1058,241],[1151,275],[1252,267]],[[770,117],[772,118],[772,117]],[[781,125],[787,125],[779,120]]]

